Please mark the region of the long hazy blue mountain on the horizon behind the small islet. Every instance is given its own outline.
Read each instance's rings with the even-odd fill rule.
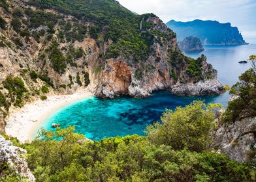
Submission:
[[[200,38],[202,44],[213,45],[243,45],[247,44],[237,27],[231,27],[231,23],[219,23],[218,21],[168,21],[167,26],[177,34],[179,41],[188,36]]]

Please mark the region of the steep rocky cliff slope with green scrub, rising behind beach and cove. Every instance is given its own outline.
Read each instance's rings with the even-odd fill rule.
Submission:
[[[182,55],[176,34],[153,14],[133,14],[114,0],[12,0],[0,8],[5,116],[10,106],[84,89],[103,98],[145,97],[177,84],[195,88],[178,94],[222,92],[206,58]]]

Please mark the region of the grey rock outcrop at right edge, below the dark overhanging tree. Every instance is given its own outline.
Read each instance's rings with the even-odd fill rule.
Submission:
[[[227,154],[238,162],[256,159],[256,117],[237,120],[234,123],[219,123],[213,135],[213,148]]]

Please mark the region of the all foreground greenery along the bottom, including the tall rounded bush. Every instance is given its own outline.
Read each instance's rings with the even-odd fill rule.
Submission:
[[[92,142],[68,127],[23,147],[37,181],[251,181],[251,168],[206,148],[214,108],[195,101],[167,110],[148,136]]]

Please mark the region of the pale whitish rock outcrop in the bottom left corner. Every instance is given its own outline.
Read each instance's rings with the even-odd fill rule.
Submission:
[[[0,135],[0,165],[6,162],[16,174],[25,177],[29,181],[35,181],[34,175],[31,173],[24,159],[25,149],[12,145],[12,142],[5,140]]]

